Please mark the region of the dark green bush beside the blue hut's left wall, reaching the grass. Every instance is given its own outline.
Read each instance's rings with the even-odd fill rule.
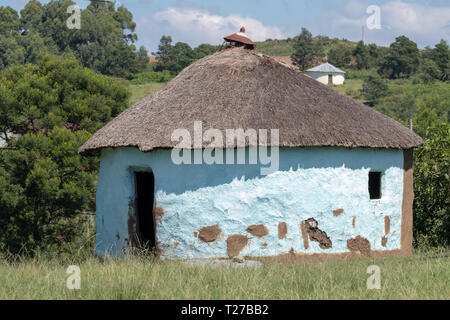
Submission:
[[[0,151],[0,250],[64,250],[95,211],[97,158],[80,157],[86,131],[27,133]]]

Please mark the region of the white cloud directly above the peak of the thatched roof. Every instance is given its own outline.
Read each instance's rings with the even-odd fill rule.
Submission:
[[[154,17],[168,24],[183,38],[197,43],[221,43],[223,37],[238,32],[241,26],[245,26],[247,35],[253,41],[286,38],[278,27],[265,26],[259,20],[239,15],[224,17],[206,10],[168,8],[157,12]]]

